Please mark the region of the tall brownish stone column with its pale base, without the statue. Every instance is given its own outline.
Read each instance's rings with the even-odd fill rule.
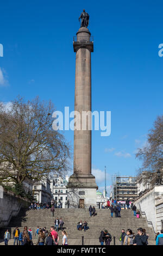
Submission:
[[[91,52],[89,29],[82,27],[73,41],[76,52],[76,80],[74,110],[80,118],[74,120],[74,170],[67,184],[70,207],[96,205],[97,185],[91,174]],[[85,112],[85,114],[84,114]],[[85,116],[83,116],[83,114]],[[83,117],[83,118],[82,118]]]

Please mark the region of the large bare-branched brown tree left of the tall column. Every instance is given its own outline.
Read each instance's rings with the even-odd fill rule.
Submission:
[[[36,97],[0,104],[0,181],[22,183],[68,170],[70,148],[52,128],[54,106]]]

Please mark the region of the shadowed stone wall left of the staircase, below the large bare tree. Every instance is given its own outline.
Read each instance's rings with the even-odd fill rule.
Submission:
[[[7,227],[11,217],[17,216],[21,208],[30,205],[28,199],[16,196],[0,186],[0,227]]]

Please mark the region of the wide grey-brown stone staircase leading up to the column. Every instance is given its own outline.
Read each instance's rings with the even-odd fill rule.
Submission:
[[[145,218],[136,218],[131,210],[121,210],[121,218],[111,218],[110,210],[108,209],[97,209],[97,216],[90,217],[89,211],[87,209],[55,209],[54,217],[51,216],[50,209],[42,210],[27,210],[21,209],[18,216],[11,219],[9,227],[4,227],[0,229],[0,239],[3,238],[4,231],[8,228],[12,233],[15,227],[19,227],[22,231],[24,225],[32,228],[33,237],[35,237],[36,227],[41,228],[46,227],[47,230],[54,225],[54,220],[56,217],[64,220],[64,228],[68,233],[68,239],[80,239],[82,241],[82,236],[84,236],[84,241],[88,239],[95,239],[97,245],[99,245],[98,237],[101,230],[107,229],[112,236],[111,244],[113,245],[113,237],[116,237],[116,245],[120,245],[119,237],[121,235],[122,228],[126,231],[128,228],[133,230],[137,234],[137,228],[142,227],[146,229],[146,234],[149,235],[148,244],[155,245],[155,234],[151,227],[148,227]],[[79,231],[77,230],[77,223],[82,220],[86,221],[90,229]],[[61,230],[58,232],[61,240]],[[95,244],[96,244],[95,243]],[[82,243],[80,243],[82,245]]]

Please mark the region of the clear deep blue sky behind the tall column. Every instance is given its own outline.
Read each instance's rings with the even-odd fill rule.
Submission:
[[[162,114],[162,1],[3,1],[0,99],[39,95],[59,111],[74,109],[73,36],[85,8],[94,38],[92,111],[111,111],[111,135],[92,131],[92,173],[104,186],[111,175],[135,175],[135,151]],[[73,145],[73,131],[64,132]]]

